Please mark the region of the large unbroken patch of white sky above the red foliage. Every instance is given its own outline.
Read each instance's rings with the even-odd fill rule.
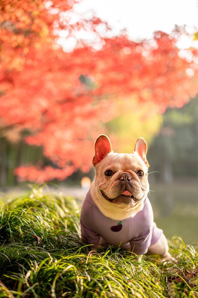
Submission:
[[[156,30],[170,33],[175,24],[198,28],[197,0],[83,0],[75,11],[94,10],[115,32],[126,28],[132,39],[150,38]]]

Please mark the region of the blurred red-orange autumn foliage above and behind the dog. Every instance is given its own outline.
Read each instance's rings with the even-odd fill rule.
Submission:
[[[109,121],[121,108],[127,111],[125,98],[150,101],[163,112],[197,93],[197,52],[189,49],[191,61],[180,58],[175,39],[164,32],[157,32],[152,43],[135,43],[126,35],[100,37],[100,50],[80,43],[73,52],[64,52],[55,43],[54,27],[71,36],[88,25],[97,32],[102,23],[93,18],[69,24],[61,13],[74,3],[1,1],[1,128],[28,130],[25,142],[42,146],[58,166],[19,167],[15,173],[21,181],[63,180],[79,168],[88,171],[100,122]],[[193,79],[186,69],[194,70]]]

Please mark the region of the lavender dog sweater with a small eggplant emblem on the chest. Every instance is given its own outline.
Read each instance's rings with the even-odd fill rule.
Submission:
[[[163,233],[153,222],[153,210],[148,198],[145,198],[143,209],[134,217],[119,221],[103,215],[89,191],[83,202],[80,224],[85,243],[94,247],[98,244],[120,245],[122,249],[132,249],[137,255],[145,254]]]

